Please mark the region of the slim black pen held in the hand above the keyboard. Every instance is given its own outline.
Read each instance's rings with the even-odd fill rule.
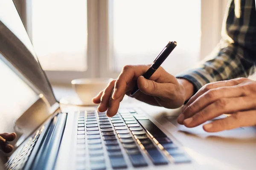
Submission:
[[[157,56],[157,58],[154,60],[153,64],[148,68],[148,70],[143,74],[143,77],[145,79],[149,79],[155,71],[157,71],[157,68],[160,67],[160,65],[164,62],[164,60],[171,54],[172,50],[176,47],[177,42],[172,41],[169,42],[165,48],[160,52],[160,54]],[[133,96],[136,94],[136,92],[139,91],[138,85],[136,83],[134,89],[131,91],[130,96]]]

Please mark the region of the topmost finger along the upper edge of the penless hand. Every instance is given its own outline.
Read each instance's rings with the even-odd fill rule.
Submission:
[[[239,79],[231,79],[226,81],[219,81],[219,82],[213,82],[208,83],[207,85],[204,85],[194,96],[192,96],[189,101],[186,103],[182,111],[184,111],[192,102],[194,102],[199,96],[206,93],[207,91],[214,89],[214,88],[220,88],[220,87],[228,87],[233,85],[238,85],[239,83],[243,82],[245,78],[239,78]]]

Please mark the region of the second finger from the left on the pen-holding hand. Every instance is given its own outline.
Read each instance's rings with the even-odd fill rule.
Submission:
[[[105,112],[108,109],[108,102],[109,102],[109,99],[111,98],[113,88],[115,85],[115,81],[116,80],[112,80],[110,83],[108,83],[108,86],[103,91],[101,99],[100,99],[101,102],[98,107],[99,112]]]

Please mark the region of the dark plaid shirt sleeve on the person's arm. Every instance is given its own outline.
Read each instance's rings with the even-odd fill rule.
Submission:
[[[230,0],[215,52],[195,69],[177,75],[192,82],[195,92],[209,82],[248,77],[255,72],[255,0]]]

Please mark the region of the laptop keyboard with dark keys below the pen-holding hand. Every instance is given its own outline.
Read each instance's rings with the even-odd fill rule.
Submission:
[[[148,166],[146,157],[154,165],[191,161],[140,108],[119,109],[111,118],[105,113],[80,111],[77,129],[77,170],[107,169],[108,160],[105,159],[105,153],[113,169],[127,168],[124,151],[133,167]],[[85,164],[88,158],[90,165]]]

